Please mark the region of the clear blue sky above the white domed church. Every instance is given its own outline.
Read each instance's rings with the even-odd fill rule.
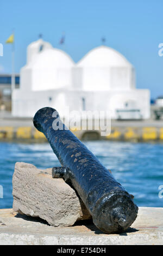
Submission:
[[[149,88],[151,97],[163,95],[162,0],[2,0],[0,4],[0,72],[11,72],[11,45],[5,40],[15,29],[15,70],[26,63],[26,49],[38,38],[65,50],[75,62],[93,47],[120,51],[135,67],[137,88]],[[65,31],[65,45],[59,45]]]

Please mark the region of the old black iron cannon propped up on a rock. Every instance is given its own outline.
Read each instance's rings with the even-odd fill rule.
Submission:
[[[53,168],[53,177],[61,177],[66,182],[71,182],[90,212],[96,227],[108,234],[122,233],[130,227],[138,212],[132,195],[66,128],[58,112],[53,108],[42,108],[36,112],[33,123],[45,134],[61,163],[61,167]]]

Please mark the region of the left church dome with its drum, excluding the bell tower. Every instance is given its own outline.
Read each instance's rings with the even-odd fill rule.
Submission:
[[[55,90],[71,87],[71,57],[59,49],[47,49],[37,54],[28,65],[32,70],[32,90]]]

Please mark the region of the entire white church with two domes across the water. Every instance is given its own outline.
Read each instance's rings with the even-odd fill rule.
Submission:
[[[111,111],[114,119],[150,116],[149,90],[136,89],[135,70],[114,49],[99,46],[78,63],[42,39],[27,47],[20,88],[12,92],[12,115],[33,117],[45,106],[70,111]]]

